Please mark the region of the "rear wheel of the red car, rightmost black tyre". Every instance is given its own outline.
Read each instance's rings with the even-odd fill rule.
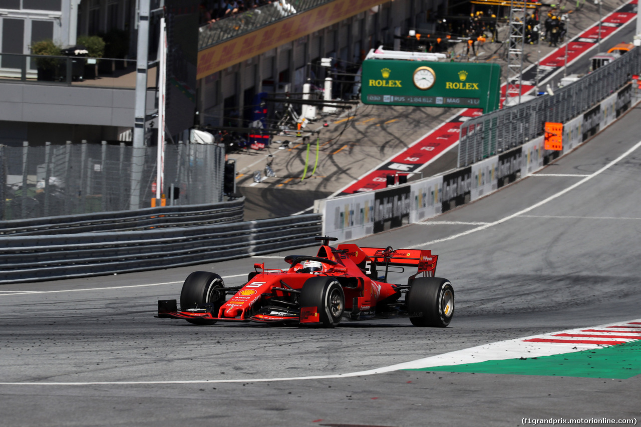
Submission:
[[[454,288],[447,279],[414,279],[406,301],[410,322],[414,326],[445,328],[454,315]]]

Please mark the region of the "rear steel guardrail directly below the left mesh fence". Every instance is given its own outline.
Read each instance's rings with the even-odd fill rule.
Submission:
[[[95,231],[142,231],[162,227],[188,227],[238,222],[243,219],[245,197],[213,205],[165,206],[119,212],[0,221],[0,235],[49,235]],[[0,240],[1,242],[1,240]]]

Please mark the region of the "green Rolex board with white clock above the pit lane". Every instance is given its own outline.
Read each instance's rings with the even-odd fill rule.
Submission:
[[[363,104],[499,108],[501,65],[406,60],[365,60]]]

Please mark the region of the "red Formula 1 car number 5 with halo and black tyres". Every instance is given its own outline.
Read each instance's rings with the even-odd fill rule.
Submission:
[[[285,323],[333,328],[341,320],[410,317],[415,326],[444,328],[454,314],[454,289],[434,277],[437,255],[420,249],[329,246],[333,237],[317,237],[316,256],[288,255],[291,267],[267,269],[254,264],[247,283],[225,287],[221,276],[192,272],[183,284],[180,311],[175,299],[158,301],[158,317],[194,324],[215,322]],[[390,267],[417,267],[407,284],[387,282]],[[399,268],[401,267],[401,268]],[[379,276],[379,269],[384,271]],[[226,301],[226,295],[232,295]],[[404,298],[403,298],[404,296]]]

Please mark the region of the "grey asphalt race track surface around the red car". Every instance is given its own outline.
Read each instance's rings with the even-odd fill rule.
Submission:
[[[635,108],[535,176],[431,221],[358,242],[438,254],[437,274],[456,291],[449,328],[414,328],[407,319],[335,330],[154,319],[156,300],[178,297],[196,267],[4,285],[0,425],[515,426],[523,417],[641,419],[641,376],[394,371],[276,380],[366,371],[497,340],[639,319],[640,120]],[[282,258],[263,258],[285,267]],[[262,260],[198,268],[219,272],[231,286],[244,282],[253,262]],[[274,380],[256,381],[268,378]],[[244,381],[189,382],[201,380]]]

